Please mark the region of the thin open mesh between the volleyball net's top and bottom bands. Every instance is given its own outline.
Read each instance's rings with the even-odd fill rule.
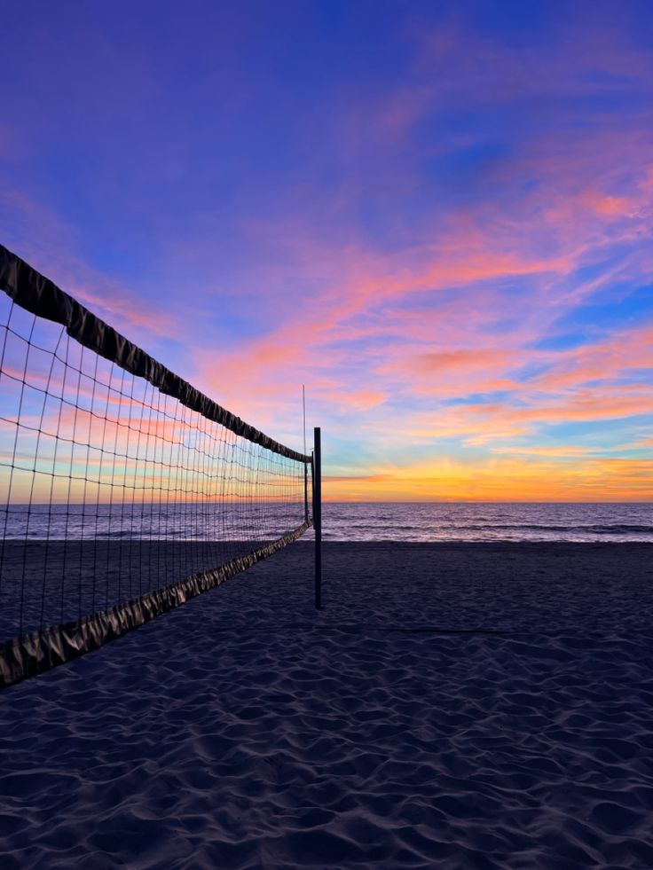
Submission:
[[[307,519],[305,462],[5,294],[0,344],[0,641],[224,565]]]

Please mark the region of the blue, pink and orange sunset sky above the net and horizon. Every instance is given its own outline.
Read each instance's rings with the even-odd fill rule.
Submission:
[[[647,2],[8,0],[0,240],[334,500],[653,500]]]

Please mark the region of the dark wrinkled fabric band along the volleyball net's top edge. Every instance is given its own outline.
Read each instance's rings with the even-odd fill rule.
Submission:
[[[64,293],[49,278],[33,269],[19,256],[0,245],[0,287],[20,305],[37,317],[53,320],[65,327],[71,338],[100,357],[111,360],[126,372],[145,378],[161,393],[176,398],[186,408],[220,423],[235,435],[287,459],[310,463],[311,457],[280,444],[254,426],[250,426],[222,405],[194,388],[187,380],[170,372],[165,365],[150,357],[121,333],[114,330],[72,296]]]

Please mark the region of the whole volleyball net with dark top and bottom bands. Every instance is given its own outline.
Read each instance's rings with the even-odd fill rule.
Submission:
[[[1,687],[296,540],[312,465],[2,246],[0,289]]]

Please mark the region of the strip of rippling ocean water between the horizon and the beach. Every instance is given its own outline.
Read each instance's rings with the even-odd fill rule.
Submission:
[[[12,505],[7,539],[261,540],[303,521],[303,506]],[[326,541],[639,541],[653,504],[326,502]],[[0,534],[3,532],[0,519]]]

